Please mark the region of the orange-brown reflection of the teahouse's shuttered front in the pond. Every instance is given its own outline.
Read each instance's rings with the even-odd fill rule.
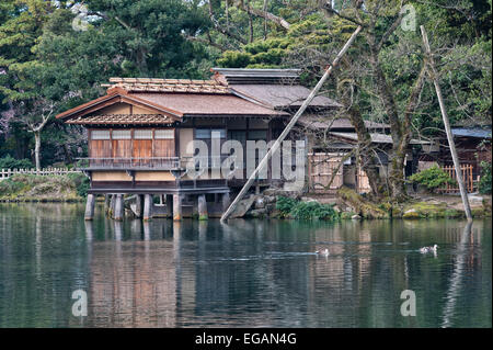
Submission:
[[[89,317],[95,327],[174,327],[176,319],[176,242],[147,240],[149,233],[171,226],[154,221],[133,234],[142,240],[121,240],[122,223],[115,222],[114,240],[93,241]],[[177,235],[179,236],[179,235]]]

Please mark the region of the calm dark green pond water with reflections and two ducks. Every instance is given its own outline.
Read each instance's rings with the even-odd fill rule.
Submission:
[[[115,223],[101,207],[84,223],[80,204],[0,204],[0,327],[491,327],[491,219],[465,226]]]

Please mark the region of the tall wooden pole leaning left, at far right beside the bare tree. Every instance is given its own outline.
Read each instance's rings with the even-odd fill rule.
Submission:
[[[444,98],[442,95],[442,89],[438,84],[438,78],[435,69],[435,61],[433,60],[432,49],[429,48],[428,36],[426,35],[426,31],[424,25],[420,26],[421,34],[423,35],[423,44],[425,47],[426,55],[428,56],[428,64],[431,68],[431,77],[433,80],[433,84],[435,86],[436,95],[438,98],[438,103],[440,105],[442,118],[444,120],[445,132],[447,133],[448,146],[450,147],[450,154],[454,160],[454,167],[456,168],[456,177],[457,182],[459,183],[460,196],[462,197],[463,208],[466,211],[466,217],[469,222],[472,221],[471,207],[469,205],[468,192],[462,179],[462,171],[460,169],[459,157],[457,156],[456,144],[454,142],[454,135],[450,129],[450,123],[448,121],[447,111],[444,104]]]

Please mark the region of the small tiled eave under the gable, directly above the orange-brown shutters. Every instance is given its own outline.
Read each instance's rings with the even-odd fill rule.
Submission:
[[[162,114],[99,114],[79,116],[67,121],[67,124],[168,124],[174,121]]]

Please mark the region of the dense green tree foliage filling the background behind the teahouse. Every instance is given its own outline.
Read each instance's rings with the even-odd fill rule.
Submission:
[[[403,3],[414,11],[413,30],[392,25]],[[34,162],[35,140],[43,167],[85,156],[81,128],[53,116],[101,95],[100,84],[113,76],[199,79],[213,66],[293,67],[313,86],[358,21],[366,29],[323,93],[365,120],[411,115],[400,128],[413,137],[443,136],[427,75],[404,113],[425,66],[424,24],[451,123],[491,124],[491,0],[2,0],[0,157]],[[381,45],[370,47],[372,37]],[[400,155],[391,156],[401,170]]]

